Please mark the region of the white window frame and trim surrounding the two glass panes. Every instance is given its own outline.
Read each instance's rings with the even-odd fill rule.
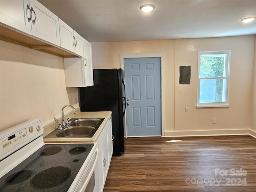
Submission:
[[[200,55],[202,54],[226,54],[226,76],[221,78],[226,78],[226,102],[209,102],[209,103],[200,103]],[[197,108],[204,108],[204,107],[229,107],[229,87],[230,87],[230,50],[226,51],[198,51],[198,74],[197,74]],[[216,78],[214,78],[216,79]]]

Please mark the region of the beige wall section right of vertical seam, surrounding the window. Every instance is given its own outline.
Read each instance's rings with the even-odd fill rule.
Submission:
[[[175,40],[175,130],[239,133],[250,128],[254,36]],[[228,108],[196,108],[198,51],[231,50]],[[179,84],[179,66],[191,66],[191,84]],[[185,106],[190,108],[185,112]],[[216,118],[216,124],[212,124]],[[210,130],[210,131],[208,131]],[[224,131],[231,130],[231,131]],[[194,132],[190,132],[194,133]]]

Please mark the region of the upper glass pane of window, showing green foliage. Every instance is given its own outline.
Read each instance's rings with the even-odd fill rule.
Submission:
[[[201,55],[199,77],[224,77],[225,76],[225,54]]]

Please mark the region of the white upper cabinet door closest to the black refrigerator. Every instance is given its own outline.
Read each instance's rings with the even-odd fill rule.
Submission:
[[[84,74],[85,86],[93,85],[92,44],[84,39]]]

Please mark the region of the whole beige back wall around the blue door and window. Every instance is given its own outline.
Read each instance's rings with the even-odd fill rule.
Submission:
[[[255,36],[92,43],[94,68],[120,68],[120,54],[164,53],[165,136],[248,133]],[[231,50],[230,107],[196,108],[198,51]],[[191,84],[179,84],[179,66]],[[189,112],[185,112],[185,107]],[[212,124],[212,118],[217,123]],[[245,131],[246,130],[246,131]]]

